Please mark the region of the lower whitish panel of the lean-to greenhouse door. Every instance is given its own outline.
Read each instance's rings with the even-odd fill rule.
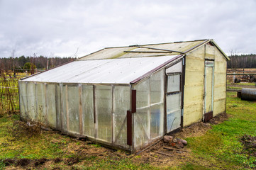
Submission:
[[[181,93],[168,95],[167,106],[167,132],[180,127],[181,122]]]

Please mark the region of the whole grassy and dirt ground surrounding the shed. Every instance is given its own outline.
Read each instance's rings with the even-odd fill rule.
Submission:
[[[3,94],[11,93],[6,89]],[[14,89],[13,103],[17,94]],[[166,150],[161,141],[132,155],[41,130],[39,123],[29,126],[19,121],[15,106],[0,112],[0,169],[256,169],[256,102],[227,95],[227,114],[177,133],[188,141],[184,149]]]

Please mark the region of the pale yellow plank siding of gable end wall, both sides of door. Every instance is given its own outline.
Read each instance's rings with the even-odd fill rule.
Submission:
[[[204,61],[214,60],[213,116],[226,111],[226,58],[212,45],[203,45],[186,56],[184,127],[204,115]]]

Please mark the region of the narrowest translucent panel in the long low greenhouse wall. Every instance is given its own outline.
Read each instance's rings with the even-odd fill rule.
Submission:
[[[60,85],[62,89],[62,130],[67,131],[67,85]]]

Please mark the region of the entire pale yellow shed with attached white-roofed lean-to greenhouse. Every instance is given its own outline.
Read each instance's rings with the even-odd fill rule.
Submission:
[[[21,120],[135,152],[226,112],[213,40],[108,47],[19,81]]]

